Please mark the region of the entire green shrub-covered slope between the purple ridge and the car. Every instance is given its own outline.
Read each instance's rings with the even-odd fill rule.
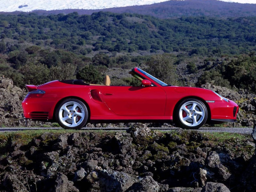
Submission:
[[[200,86],[212,81],[255,92],[255,34],[256,17],[2,14],[0,71],[20,87],[70,78],[98,83],[111,68],[149,66],[152,71],[154,63],[166,62],[169,70],[161,65],[154,70],[172,71],[173,82],[167,83]],[[134,84],[118,74],[111,78],[116,84]]]

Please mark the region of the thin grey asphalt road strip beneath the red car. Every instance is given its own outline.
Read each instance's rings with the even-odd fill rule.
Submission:
[[[14,131],[20,131],[20,130],[46,130],[46,129],[62,129],[62,128],[45,128],[45,127],[0,127],[0,132],[14,132]],[[82,130],[126,130],[127,127],[106,127],[106,128],[82,128]],[[153,130],[176,130],[177,128],[150,128]],[[197,129],[200,132],[229,132],[229,133],[239,133],[239,134],[252,134],[252,128],[251,127],[245,127],[245,128],[222,128],[222,127],[203,127]]]

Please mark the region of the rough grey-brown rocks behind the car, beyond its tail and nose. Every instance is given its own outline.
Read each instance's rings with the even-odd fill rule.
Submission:
[[[246,90],[230,90],[225,87],[205,84],[202,86],[218,92],[220,95],[229,98],[240,106],[238,123],[230,123],[226,126],[248,126],[256,123],[256,95]],[[3,126],[25,126],[22,116],[21,102],[27,91],[13,85],[12,80],[0,77],[0,127]],[[30,121],[30,126],[52,126],[50,123]],[[93,126],[93,125],[91,125]],[[150,126],[150,125],[148,125]],[[172,126],[170,124],[170,126]]]

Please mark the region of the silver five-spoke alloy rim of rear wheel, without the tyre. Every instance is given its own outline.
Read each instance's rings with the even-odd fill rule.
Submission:
[[[85,115],[84,107],[74,101],[64,103],[58,112],[60,122],[70,128],[79,126],[84,121]]]

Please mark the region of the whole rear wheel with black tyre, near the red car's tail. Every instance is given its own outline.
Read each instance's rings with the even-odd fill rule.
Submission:
[[[88,120],[87,107],[78,99],[66,99],[56,109],[56,120],[62,128],[81,129]]]

